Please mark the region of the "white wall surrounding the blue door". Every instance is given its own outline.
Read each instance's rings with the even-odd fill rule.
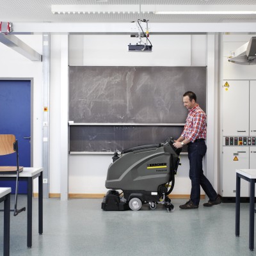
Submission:
[[[17,36],[42,54],[42,35],[19,35]],[[42,62],[33,62],[20,55],[12,48],[0,44],[0,79],[33,78],[33,165],[42,166],[42,95],[43,76]],[[22,102],[20,102],[22,104]],[[37,191],[37,183],[34,182]]]

